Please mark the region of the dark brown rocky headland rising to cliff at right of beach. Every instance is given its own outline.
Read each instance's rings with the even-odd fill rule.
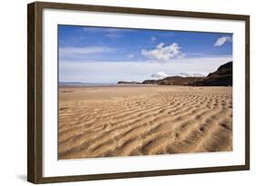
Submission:
[[[144,84],[193,85],[193,86],[232,86],[232,62],[221,65],[207,77],[169,76],[160,80],[145,80]]]

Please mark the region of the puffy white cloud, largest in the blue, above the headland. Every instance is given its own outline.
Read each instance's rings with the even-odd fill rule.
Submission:
[[[141,54],[160,63],[184,57],[184,54],[181,53],[179,44],[176,43],[166,46],[164,43],[160,43],[153,50],[142,49]]]

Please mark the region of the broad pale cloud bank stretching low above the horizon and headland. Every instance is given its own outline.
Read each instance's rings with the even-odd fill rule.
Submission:
[[[128,62],[59,62],[60,82],[117,83],[118,81],[142,82],[152,79],[156,72],[169,76],[180,73],[208,74],[216,71],[221,64],[232,60],[231,56],[208,58],[174,59],[172,63]],[[189,74],[188,73],[188,74]],[[162,73],[162,75],[166,75]],[[161,73],[160,73],[161,75]]]

